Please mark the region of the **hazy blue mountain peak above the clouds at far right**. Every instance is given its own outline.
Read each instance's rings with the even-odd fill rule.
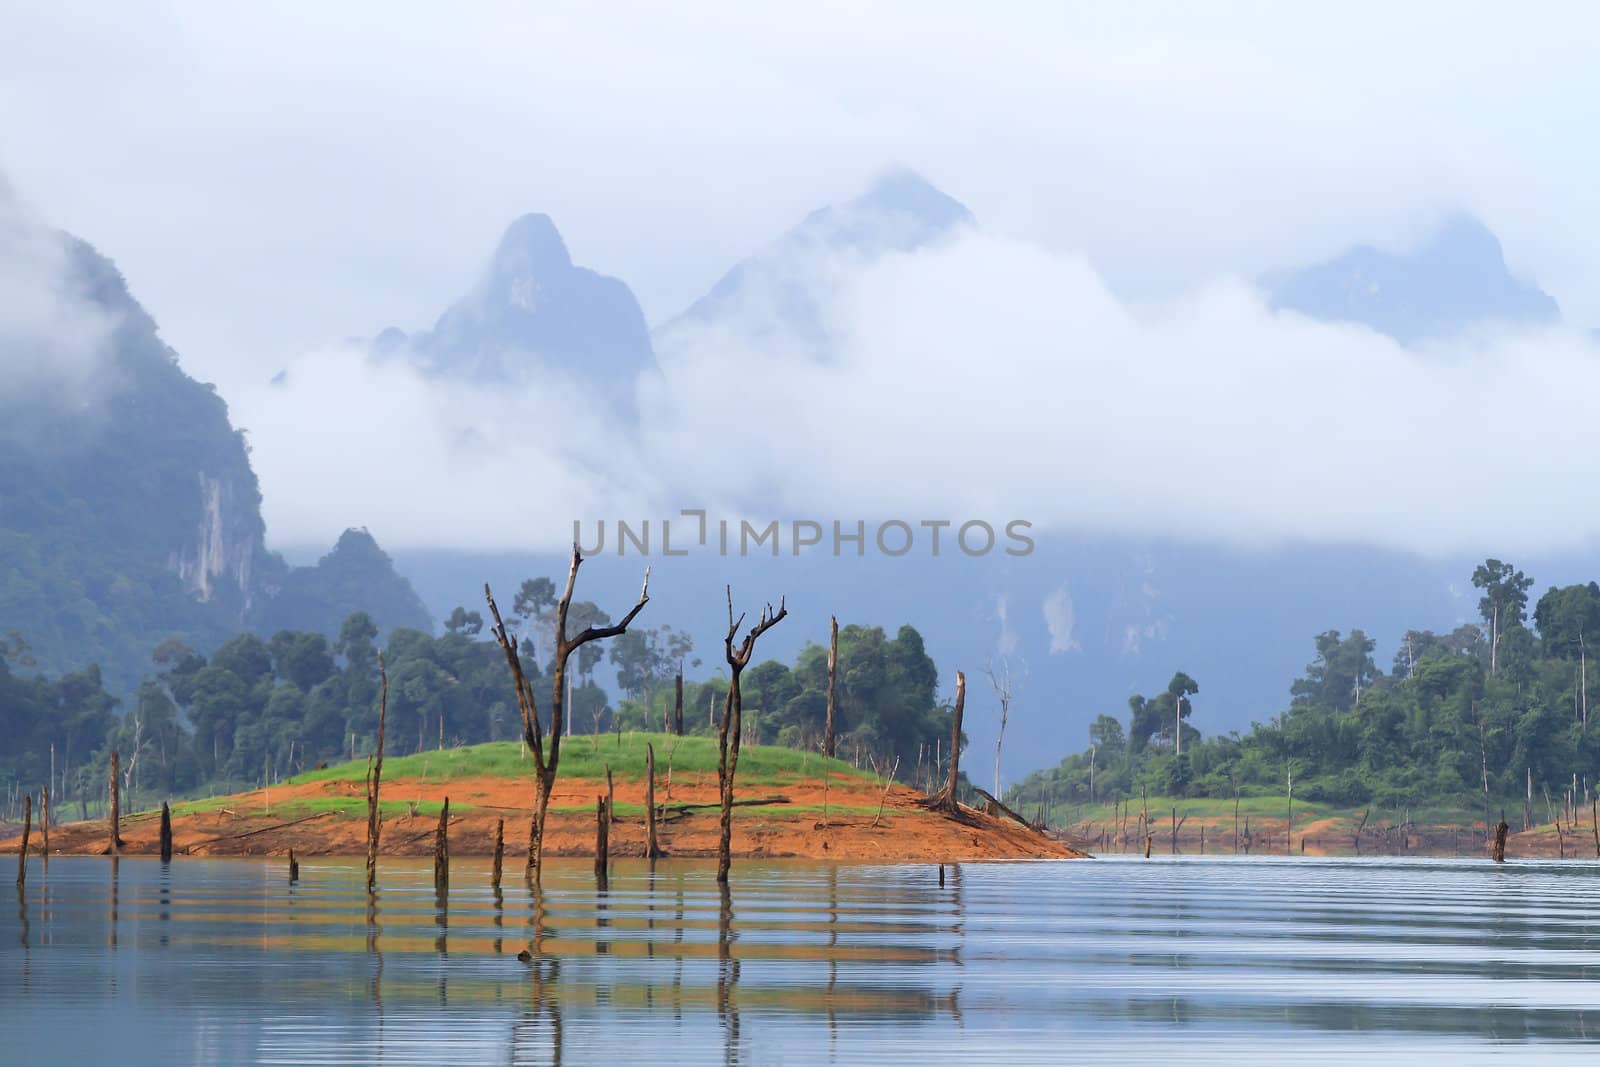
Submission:
[[[1400,344],[1480,323],[1552,323],[1562,315],[1547,293],[1510,274],[1499,238],[1466,216],[1446,221],[1414,251],[1362,245],[1264,285],[1275,309],[1363,323]]]

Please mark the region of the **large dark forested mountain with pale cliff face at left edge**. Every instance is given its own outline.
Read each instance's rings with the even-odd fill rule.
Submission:
[[[99,662],[126,693],[168,637],[208,651],[266,622],[338,633],[328,608],[357,605],[427,625],[362,545],[331,569],[267,550],[243,434],[109,259],[0,202],[0,637],[46,672]],[[362,595],[341,573],[352,553]]]

